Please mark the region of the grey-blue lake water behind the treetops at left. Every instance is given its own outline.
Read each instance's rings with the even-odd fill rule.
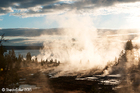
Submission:
[[[38,54],[40,54],[40,50],[14,50],[16,56],[18,57],[19,54],[23,55],[24,58],[26,58],[26,55],[28,52],[31,53],[31,56],[37,56]],[[9,50],[7,50],[7,53],[9,52]]]

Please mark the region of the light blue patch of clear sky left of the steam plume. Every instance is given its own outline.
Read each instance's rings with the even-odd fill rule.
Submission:
[[[1,28],[49,28],[44,23],[45,17],[22,18],[10,16],[9,14],[1,16]],[[55,25],[55,24],[54,24]],[[52,25],[53,27],[53,25]],[[54,26],[55,27],[55,26]]]

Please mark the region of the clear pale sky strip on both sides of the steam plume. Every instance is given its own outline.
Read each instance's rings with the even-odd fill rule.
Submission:
[[[61,15],[56,15],[61,16]],[[117,15],[99,15],[91,16],[93,18],[94,26],[98,29],[120,29],[123,24],[126,22],[126,14],[117,14]],[[58,23],[54,20],[47,19],[47,15],[41,17],[28,17],[22,18],[17,16],[11,16],[9,14],[0,16],[2,19],[0,21],[0,28],[59,28]],[[94,19],[95,18],[95,19]],[[45,21],[44,21],[45,20]],[[49,23],[46,21],[49,20]],[[121,22],[120,22],[121,21]],[[64,27],[65,28],[65,27]]]

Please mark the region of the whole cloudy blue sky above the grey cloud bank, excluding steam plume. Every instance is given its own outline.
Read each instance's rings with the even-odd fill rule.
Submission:
[[[136,25],[130,26],[133,22],[131,18],[140,20],[139,0],[101,1],[29,0],[28,3],[26,0],[1,0],[0,28],[59,28],[59,23],[50,20],[49,16],[63,16],[73,10],[76,11],[75,14],[90,16],[97,29],[123,29],[127,28],[126,25],[129,28],[139,28]]]

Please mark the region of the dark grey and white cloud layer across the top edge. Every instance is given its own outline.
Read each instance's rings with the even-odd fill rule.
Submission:
[[[23,0],[2,1],[0,15],[34,17],[77,9],[82,14],[107,15],[128,13],[138,9],[139,0]],[[135,12],[135,11],[133,11]],[[31,16],[30,16],[31,15]]]

